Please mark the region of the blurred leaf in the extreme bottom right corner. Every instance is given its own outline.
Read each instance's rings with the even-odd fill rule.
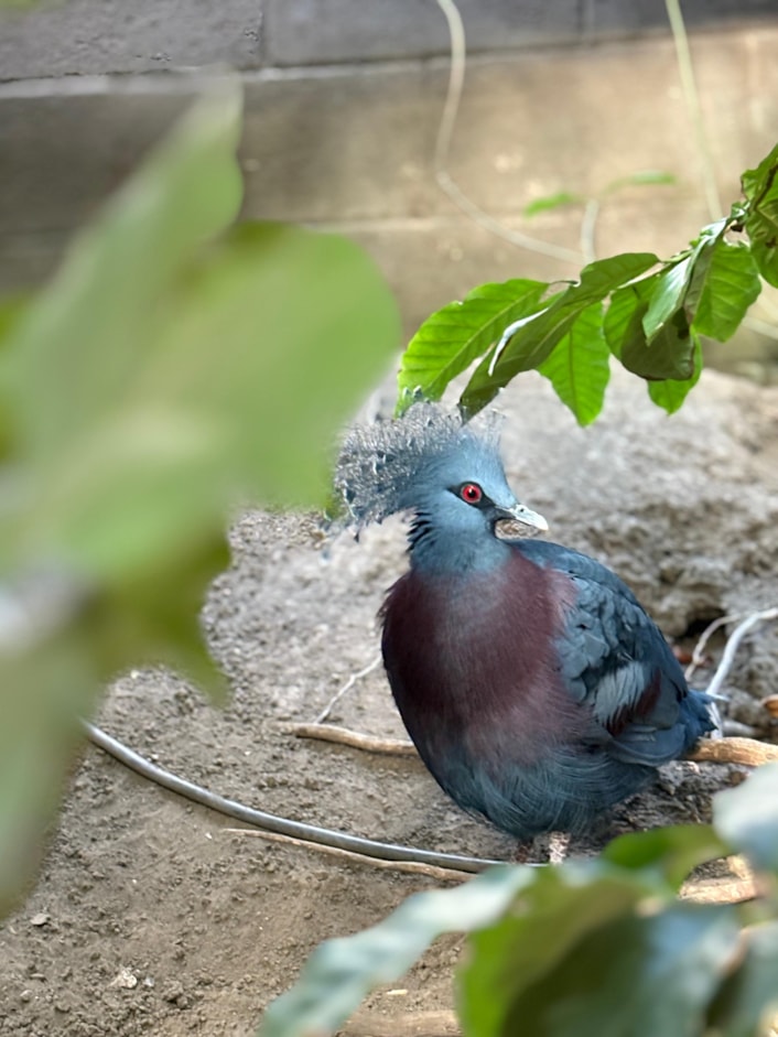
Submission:
[[[745,954],[709,1013],[709,1025],[726,1037],[767,1034],[778,1014],[778,922],[745,930],[743,942]]]

